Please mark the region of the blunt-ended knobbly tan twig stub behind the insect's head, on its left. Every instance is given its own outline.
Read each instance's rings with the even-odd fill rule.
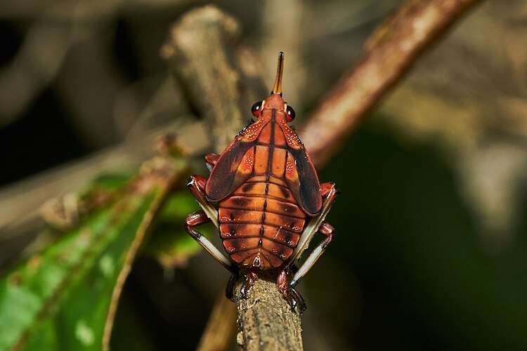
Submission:
[[[240,25],[233,17],[205,6],[174,25],[161,50],[191,107],[209,124],[216,152],[240,131],[247,115],[242,111],[256,101],[254,87],[247,85],[236,65],[240,55],[235,55],[234,44],[239,37]]]

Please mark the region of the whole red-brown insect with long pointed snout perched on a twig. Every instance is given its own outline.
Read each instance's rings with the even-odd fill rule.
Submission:
[[[284,54],[271,96],[252,106],[256,121],[236,135],[223,154],[207,154],[208,179],[192,176],[187,186],[202,206],[186,219],[186,230],[222,265],[233,272],[227,295],[233,298],[238,267],[246,267],[242,296],[257,279],[258,270],[278,270],[278,290],[303,312],[304,299],[294,289],[333,239],[334,229],[323,222],[339,194],[334,183],[320,184],[304,144],[287,123],[294,110],[282,100]],[[217,202],[214,205],[213,202]],[[195,230],[212,221],[219,227],[228,256]],[[292,265],[315,232],[323,240],[289,282]]]

